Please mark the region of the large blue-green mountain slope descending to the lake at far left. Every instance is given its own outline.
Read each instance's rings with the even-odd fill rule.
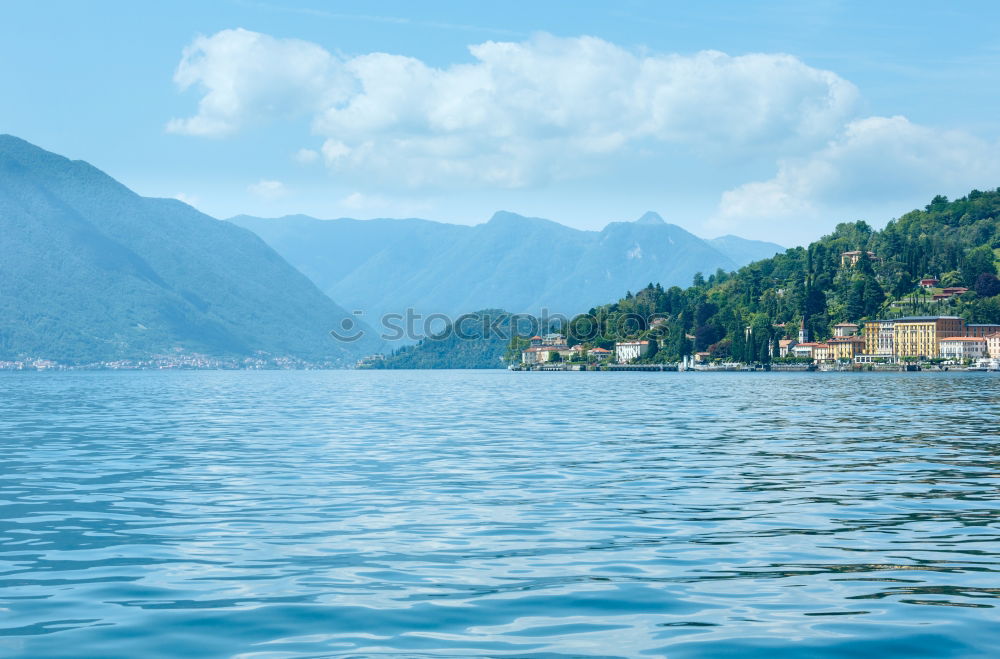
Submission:
[[[253,233],[0,136],[0,359],[346,360],[346,315]]]

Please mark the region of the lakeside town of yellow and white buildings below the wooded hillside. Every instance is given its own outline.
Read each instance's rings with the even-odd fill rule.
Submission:
[[[748,327],[747,332],[751,329]],[[512,370],[921,370],[1000,371],[1000,324],[966,323],[958,316],[907,316],[863,324],[838,323],[833,336],[811,341],[805,323],[796,339],[768,346],[774,360],[742,364],[696,352],[679,364],[650,364],[657,339],[618,341],[614,350],[569,346],[562,334],[533,336]],[[648,368],[644,368],[648,367]]]

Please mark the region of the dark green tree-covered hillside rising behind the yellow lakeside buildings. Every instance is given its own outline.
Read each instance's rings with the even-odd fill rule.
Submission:
[[[852,263],[850,252],[860,252]],[[868,254],[868,253],[871,254]],[[839,225],[808,248],[795,248],[741,268],[697,275],[687,288],[651,284],[614,304],[592,309],[568,328],[569,342],[610,347],[642,336],[664,345],[657,361],[695,351],[740,361],[767,360],[772,339],[794,338],[804,321],[813,339],[833,325],[922,313],[1000,323],[1000,189],[973,190],[955,201],[935,197],[923,210],[882,231],[865,222]],[[942,301],[918,286],[970,290]],[[650,322],[659,316],[662,320]]]

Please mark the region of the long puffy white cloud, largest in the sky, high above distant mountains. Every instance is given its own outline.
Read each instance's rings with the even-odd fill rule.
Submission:
[[[203,96],[168,129],[221,136],[306,116],[331,168],[413,186],[519,187],[653,145],[704,154],[811,148],[849,119],[850,82],[782,54],[641,54],[594,37],[471,46],[439,68],[224,30],[175,74]]]

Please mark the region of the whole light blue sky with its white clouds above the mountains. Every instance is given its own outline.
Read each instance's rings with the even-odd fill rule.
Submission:
[[[996,3],[0,11],[0,132],[217,217],[652,209],[788,245],[1000,186]]]

